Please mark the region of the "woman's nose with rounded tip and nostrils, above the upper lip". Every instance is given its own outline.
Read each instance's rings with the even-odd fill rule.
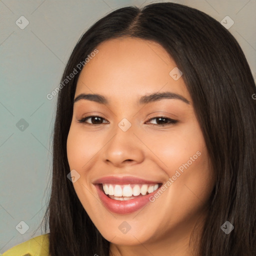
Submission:
[[[103,160],[106,163],[115,167],[122,167],[143,161],[143,144],[134,135],[133,131],[132,125],[126,131],[123,131],[118,126],[115,128],[115,134],[103,147]]]

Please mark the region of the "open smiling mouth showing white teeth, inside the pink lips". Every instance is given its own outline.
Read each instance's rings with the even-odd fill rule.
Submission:
[[[162,184],[109,184],[101,183],[99,187],[109,198],[119,201],[135,199],[157,190]]]

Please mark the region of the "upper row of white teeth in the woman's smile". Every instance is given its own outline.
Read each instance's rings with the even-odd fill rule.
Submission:
[[[146,192],[151,193],[158,188],[158,184],[132,184],[132,185],[115,185],[103,184],[105,194],[114,196],[136,196],[140,193],[145,195]]]

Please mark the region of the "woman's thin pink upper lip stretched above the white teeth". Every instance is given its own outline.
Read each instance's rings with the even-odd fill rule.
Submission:
[[[146,180],[139,177],[134,176],[105,176],[99,179],[96,179],[94,184],[156,184],[162,183],[159,180]]]

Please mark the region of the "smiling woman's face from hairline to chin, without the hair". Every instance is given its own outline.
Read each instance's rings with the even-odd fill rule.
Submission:
[[[97,49],[74,98],[104,100],[77,98],[67,138],[77,196],[111,243],[184,242],[213,182],[182,75],[153,41],[117,38]]]

